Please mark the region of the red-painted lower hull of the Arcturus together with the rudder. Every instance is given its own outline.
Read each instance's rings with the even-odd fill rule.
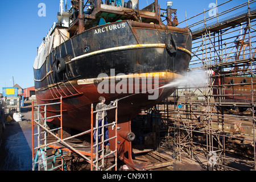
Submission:
[[[123,133],[132,133],[130,121],[132,118],[137,116],[142,109],[150,109],[152,106],[155,106],[160,101],[163,101],[166,97],[170,96],[170,94],[174,92],[175,88],[161,87],[172,81],[172,78],[176,78],[177,76],[178,75],[171,75],[171,78],[167,78],[167,76],[165,76],[164,79],[159,79],[157,85],[154,83],[152,88],[159,88],[158,98],[156,100],[148,100],[148,96],[152,95],[152,92],[140,92],[138,94],[100,94],[98,93],[96,84],[83,84],[73,86],[73,89],[76,90],[76,94],[63,97],[63,127],[79,131],[90,130],[91,106],[93,104],[95,110],[95,106],[98,103],[98,97],[104,96],[106,98],[105,104],[109,104],[110,101],[118,100],[118,158],[135,169],[142,169],[133,163],[131,158],[131,141],[123,137]],[[143,85],[141,85],[141,88],[143,88]],[[68,89],[72,90],[72,87],[70,86]],[[62,90],[64,91],[63,88]],[[48,89],[45,92],[39,92],[37,94],[38,104],[48,104],[59,101],[58,99],[52,99],[53,91],[53,89]],[[42,98],[44,98],[44,100]],[[59,110],[60,107],[47,106],[47,117],[56,115]],[[93,116],[93,126],[95,126],[95,116],[96,115]],[[108,122],[112,123],[113,121],[115,121],[115,110],[110,110],[108,113]],[[51,122],[55,125],[60,124],[60,121],[57,119],[49,120],[48,122]],[[109,138],[111,137],[114,137],[114,130],[112,130],[112,127],[109,127]],[[115,150],[113,142],[114,140],[110,140],[110,149],[112,151]]]

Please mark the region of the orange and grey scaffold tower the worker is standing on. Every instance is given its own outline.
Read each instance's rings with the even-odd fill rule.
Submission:
[[[91,171],[117,171],[117,101],[116,105],[104,110],[93,111],[93,104],[91,109],[91,129],[84,131],[82,133],[73,135],[71,137],[64,138],[63,137],[63,101],[62,97],[60,98],[60,102],[52,103],[52,104],[42,104],[42,105],[34,105],[32,102],[32,170],[38,171],[53,171],[53,170],[61,170],[66,171],[67,163],[65,163],[65,155],[73,152],[76,155],[79,155],[84,159],[85,162],[90,164]],[[56,115],[47,115],[47,106],[51,105],[59,105],[60,110],[59,114]],[[37,107],[37,118],[34,118],[34,107]],[[98,119],[96,118],[96,126],[93,127],[94,123],[94,114],[96,117],[98,112],[107,111],[115,109],[115,121],[110,124],[98,125]],[[55,127],[53,129],[49,129],[47,125],[47,119],[58,118],[60,123],[60,127]],[[37,133],[34,133],[34,127],[37,125]],[[98,136],[98,131],[101,130],[102,134],[104,134],[104,130],[106,127],[112,125],[112,129],[115,129],[115,135],[112,138],[104,139],[104,135]],[[96,134],[96,140],[94,142],[94,133]],[[89,134],[90,135],[90,143],[86,144],[76,144],[70,142],[71,139],[75,139],[82,135]],[[55,141],[49,142],[49,136],[55,138]],[[35,145],[34,139],[37,139],[37,143]],[[48,138],[48,139],[47,139]],[[104,151],[104,142],[108,140],[115,140],[115,150],[106,154]],[[101,150],[98,150],[98,146],[101,146]],[[96,150],[94,150],[94,148]],[[105,159],[109,157],[113,157],[114,162],[112,164],[108,164],[106,166]]]

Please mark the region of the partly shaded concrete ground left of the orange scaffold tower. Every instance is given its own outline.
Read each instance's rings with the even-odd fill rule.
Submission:
[[[31,111],[23,111],[22,121],[6,122],[0,146],[0,171],[32,170]]]

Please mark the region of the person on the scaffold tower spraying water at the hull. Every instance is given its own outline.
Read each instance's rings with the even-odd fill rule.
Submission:
[[[102,110],[102,109],[108,109],[110,107],[113,107],[115,106],[115,102],[112,104],[109,104],[109,105],[106,105],[105,104],[105,97],[103,96],[100,96],[98,98],[98,100],[100,101],[97,105],[96,105],[96,111],[97,110]],[[104,118],[104,125],[108,125],[108,113],[107,111],[99,111],[98,112],[98,127],[102,126],[102,119]],[[101,135],[101,130],[102,128],[98,129],[98,135]],[[98,140],[100,140],[101,137],[98,137]],[[96,134],[94,134],[94,139],[96,140]],[[109,139],[109,130],[108,130],[108,126],[105,126],[104,127],[104,140],[107,140]],[[111,151],[110,151],[110,148],[109,148],[109,140],[104,142],[104,146],[106,148],[106,154],[109,154]],[[100,150],[100,145],[98,145],[98,150]]]

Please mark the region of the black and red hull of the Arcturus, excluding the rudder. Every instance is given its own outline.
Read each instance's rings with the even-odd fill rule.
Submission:
[[[176,47],[175,52],[167,50],[170,34],[174,40],[171,47]],[[118,104],[118,121],[130,121],[141,109],[148,109],[164,100],[175,88],[161,88],[159,95],[149,100],[152,93],[141,93],[142,88],[148,88],[147,82],[137,83],[140,90],[136,94],[135,90],[128,92],[129,83],[123,85],[127,93],[125,89],[121,93],[117,90],[111,92],[112,88],[101,93],[98,90],[100,79],[114,78],[115,88],[118,84],[115,78],[120,75],[164,73],[158,82],[151,85],[151,88],[158,89],[187,70],[191,59],[191,36],[190,31],[133,27],[130,20],[91,28],[68,39],[49,53],[40,68],[34,68],[38,104],[59,102],[62,97],[63,127],[85,131],[90,129],[90,107],[97,104],[99,96],[106,97],[106,104],[127,97]],[[63,70],[57,70],[59,58],[65,63]],[[110,86],[111,81],[109,83]],[[59,108],[49,106],[47,110],[51,115]],[[58,123],[56,120],[48,121]]]

